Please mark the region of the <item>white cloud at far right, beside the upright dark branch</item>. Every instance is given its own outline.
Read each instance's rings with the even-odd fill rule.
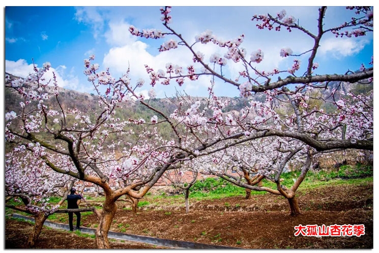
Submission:
[[[332,55],[339,59],[360,52],[368,43],[369,41],[363,39],[331,37],[320,42],[319,52],[324,56]]]

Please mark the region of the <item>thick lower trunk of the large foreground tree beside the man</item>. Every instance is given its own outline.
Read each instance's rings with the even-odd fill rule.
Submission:
[[[106,197],[103,204],[103,212],[100,218],[99,227],[96,229],[95,243],[97,248],[109,248],[108,231],[114,214],[116,213],[116,204],[114,200],[110,200]]]

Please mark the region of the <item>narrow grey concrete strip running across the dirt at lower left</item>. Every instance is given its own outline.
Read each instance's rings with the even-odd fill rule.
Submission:
[[[20,214],[13,214],[12,217],[34,222],[34,218],[23,216]],[[54,229],[70,230],[68,224],[56,223],[56,222],[51,222],[47,220],[45,221],[44,226],[54,228]],[[95,229],[81,227],[80,232],[94,235]],[[168,239],[162,239],[162,238],[156,238],[156,237],[150,237],[150,236],[131,235],[131,234],[125,234],[125,233],[112,232],[112,231],[108,232],[108,238],[144,242],[144,243],[165,246],[165,247],[172,247],[172,248],[242,249],[238,247],[229,247],[229,246],[222,246],[222,245],[204,244],[204,243],[178,241],[178,240],[168,240]]]

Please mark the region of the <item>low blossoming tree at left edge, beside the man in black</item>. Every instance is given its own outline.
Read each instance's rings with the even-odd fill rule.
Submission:
[[[6,207],[32,214],[35,225],[27,245],[33,247],[47,217],[53,213],[93,211],[94,208],[62,209],[67,194],[77,181],[65,174],[52,172],[40,156],[41,147],[30,143],[6,154],[5,196]],[[65,192],[60,192],[65,189]],[[63,193],[63,194],[62,194]],[[51,204],[52,196],[62,195],[57,204]],[[11,203],[11,200],[13,202]]]

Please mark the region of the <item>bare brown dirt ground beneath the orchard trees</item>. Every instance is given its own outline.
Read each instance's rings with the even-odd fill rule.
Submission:
[[[164,209],[159,208],[161,205],[147,205],[133,214],[125,208],[125,202],[120,202],[110,230],[242,248],[373,248],[372,183],[302,190],[298,192],[298,200],[302,214],[297,217],[289,216],[285,199],[272,194],[252,195],[250,200],[236,196],[190,201],[189,214],[185,213],[184,205],[176,203],[167,203]],[[96,224],[94,215],[82,218],[82,227],[95,228]],[[364,224],[365,235],[294,236],[294,227],[299,224]],[[7,219],[6,248],[25,248],[31,229],[29,223]],[[111,247],[160,248],[113,240]],[[72,232],[44,228],[36,248],[95,248],[95,244],[94,239],[79,237]]]

